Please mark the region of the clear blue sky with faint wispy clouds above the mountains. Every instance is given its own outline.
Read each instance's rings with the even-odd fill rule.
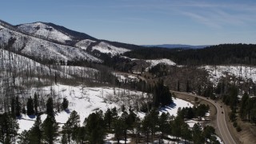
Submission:
[[[53,22],[138,45],[256,43],[255,0],[2,0],[13,25]]]

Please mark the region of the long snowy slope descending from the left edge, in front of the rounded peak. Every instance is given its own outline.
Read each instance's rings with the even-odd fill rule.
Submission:
[[[17,31],[7,29],[5,26],[0,30],[0,46],[10,47],[11,50],[17,51],[27,56],[38,59],[55,59],[55,60],[74,60],[86,59],[92,62],[101,62],[100,59],[87,54],[86,51],[71,47],[59,45],[40,38],[35,38]]]

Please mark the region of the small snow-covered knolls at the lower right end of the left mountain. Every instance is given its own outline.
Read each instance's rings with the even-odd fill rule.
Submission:
[[[93,46],[92,50],[98,50],[101,53],[111,54],[112,56],[117,55],[117,54],[123,54],[126,51],[130,51],[130,50],[122,48],[122,47],[112,46],[107,42],[100,42],[97,46]]]

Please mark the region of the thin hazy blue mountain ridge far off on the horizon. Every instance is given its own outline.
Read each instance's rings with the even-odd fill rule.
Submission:
[[[203,49],[211,45],[198,45],[198,46],[192,46],[192,45],[182,45],[182,44],[162,44],[162,45],[142,45],[146,47],[162,47],[162,48],[168,48],[168,49],[175,49],[175,48],[182,48],[182,49]]]

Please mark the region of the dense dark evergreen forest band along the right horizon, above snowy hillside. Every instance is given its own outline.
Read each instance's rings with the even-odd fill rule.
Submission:
[[[256,45],[222,44],[197,50],[152,47],[129,51],[124,55],[142,59],[170,58],[179,65],[255,65]]]

